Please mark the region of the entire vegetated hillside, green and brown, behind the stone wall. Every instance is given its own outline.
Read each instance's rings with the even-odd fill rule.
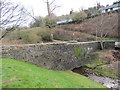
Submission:
[[[114,40],[118,35],[118,13],[120,10],[108,12],[90,19],[86,19],[80,24],[57,25],[55,28],[29,28],[15,30],[2,39],[3,45],[9,44],[35,44],[41,42],[51,42],[54,40],[80,42],[95,41],[96,30],[97,39],[100,39],[103,30],[103,40]],[[102,24],[101,24],[102,20]],[[51,37],[53,34],[53,37]]]

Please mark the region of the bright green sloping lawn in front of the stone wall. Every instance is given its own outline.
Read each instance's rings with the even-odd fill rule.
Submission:
[[[106,88],[70,71],[52,71],[25,62],[3,58],[3,88]]]

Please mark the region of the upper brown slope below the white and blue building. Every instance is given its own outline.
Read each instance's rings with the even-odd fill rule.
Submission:
[[[120,9],[87,19],[80,24],[58,25],[56,28],[84,32],[90,35],[96,35],[97,30],[98,36],[100,36],[100,30],[103,30],[104,34],[107,33],[108,38],[118,38],[119,13]]]

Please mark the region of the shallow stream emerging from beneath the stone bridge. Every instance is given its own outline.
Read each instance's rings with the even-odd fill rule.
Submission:
[[[99,82],[108,88],[116,88],[120,90],[120,85],[118,85],[120,84],[120,80],[118,79],[112,79],[112,78],[101,76],[98,73],[93,72],[91,69],[87,67],[75,68],[72,71],[75,73],[84,75],[95,82]]]

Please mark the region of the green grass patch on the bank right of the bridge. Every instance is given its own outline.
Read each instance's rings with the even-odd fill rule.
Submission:
[[[106,51],[107,50],[96,51],[92,53],[91,56],[89,57],[90,61],[88,64],[86,64],[86,66],[92,69],[94,68],[94,72],[98,72],[99,74],[103,76],[110,77],[110,78],[119,78],[120,73],[114,71],[112,67],[109,67],[110,64],[108,64],[108,60],[105,58],[105,56],[103,57],[99,56],[102,53],[105,55],[104,52]]]

